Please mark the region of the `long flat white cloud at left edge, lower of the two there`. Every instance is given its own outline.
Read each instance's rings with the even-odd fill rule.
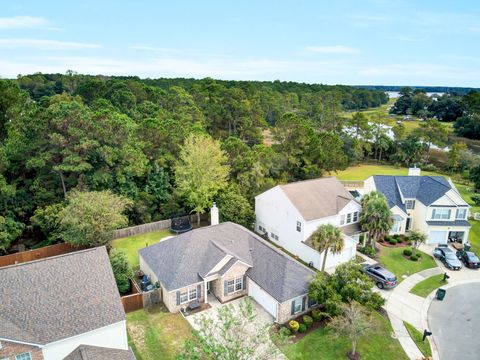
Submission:
[[[99,48],[99,44],[43,39],[0,39],[0,49],[81,50]]]

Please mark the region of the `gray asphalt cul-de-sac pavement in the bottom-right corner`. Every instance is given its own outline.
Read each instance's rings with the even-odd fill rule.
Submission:
[[[433,300],[428,322],[440,360],[480,359],[480,283],[447,289],[443,301]]]

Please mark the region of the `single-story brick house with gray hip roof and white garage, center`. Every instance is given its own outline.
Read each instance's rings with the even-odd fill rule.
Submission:
[[[283,323],[315,306],[307,296],[314,271],[232,222],[165,239],[139,250],[139,258],[171,312],[249,295]]]

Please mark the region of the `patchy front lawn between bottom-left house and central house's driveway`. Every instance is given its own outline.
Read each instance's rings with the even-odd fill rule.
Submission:
[[[180,314],[163,305],[127,314],[128,343],[137,360],[175,359],[192,334],[190,324]]]

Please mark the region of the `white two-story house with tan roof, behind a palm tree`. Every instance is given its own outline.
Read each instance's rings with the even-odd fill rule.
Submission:
[[[343,231],[344,249],[329,254],[325,268],[352,259],[360,230],[361,205],[334,177],[277,185],[255,197],[255,230],[307,263],[321,269],[323,255],[310,236],[322,224]]]

